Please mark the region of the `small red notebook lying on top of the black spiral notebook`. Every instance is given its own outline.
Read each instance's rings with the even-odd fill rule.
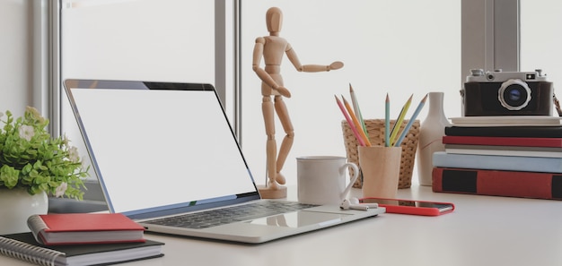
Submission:
[[[43,245],[145,242],[145,227],[120,213],[37,214],[27,224]]]

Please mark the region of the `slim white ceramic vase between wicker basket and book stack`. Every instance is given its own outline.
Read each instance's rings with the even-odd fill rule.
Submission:
[[[429,110],[426,119],[419,126],[417,142],[417,178],[421,185],[431,185],[433,154],[445,150],[443,135],[445,126],[450,125],[443,111],[443,92],[429,92]]]

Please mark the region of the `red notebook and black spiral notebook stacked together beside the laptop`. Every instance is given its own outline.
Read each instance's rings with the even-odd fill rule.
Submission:
[[[119,213],[33,215],[31,232],[0,236],[0,254],[38,265],[108,265],[162,257],[162,242]]]

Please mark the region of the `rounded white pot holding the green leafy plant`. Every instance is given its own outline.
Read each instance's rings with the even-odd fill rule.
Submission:
[[[0,189],[0,235],[29,232],[27,219],[47,211],[47,193],[30,195],[22,188]]]

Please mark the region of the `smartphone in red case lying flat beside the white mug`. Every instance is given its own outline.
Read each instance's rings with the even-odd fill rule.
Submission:
[[[379,206],[386,208],[387,213],[438,216],[454,210],[454,204],[451,202],[425,202],[373,197],[359,199],[359,202],[378,203]]]

